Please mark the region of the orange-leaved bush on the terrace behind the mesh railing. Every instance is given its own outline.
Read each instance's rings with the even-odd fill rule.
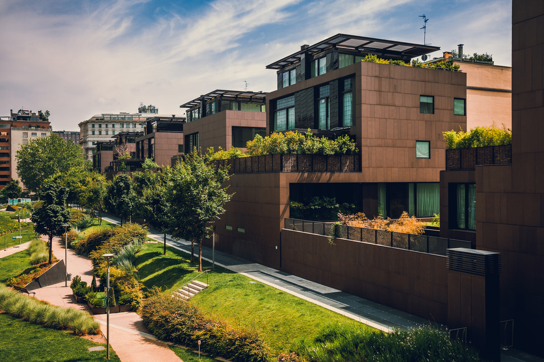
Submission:
[[[384,219],[381,215],[369,220],[367,216],[358,212],[353,215],[338,213],[338,221],[342,225],[357,226],[364,228],[372,228],[378,230],[387,230],[401,232],[405,234],[423,234],[425,225],[415,217],[410,217],[405,211],[398,220],[390,221],[390,218]]]

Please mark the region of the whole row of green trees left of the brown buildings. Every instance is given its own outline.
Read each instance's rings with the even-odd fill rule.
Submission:
[[[132,218],[145,219],[164,234],[191,240],[191,251],[199,245],[199,270],[202,270],[202,241],[211,223],[225,212],[231,195],[222,183],[226,169],[215,169],[200,153],[193,153],[175,167],[162,167],[154,173],[137,172],[134,179],[121,174],[113,182],[90,170],[82,149],[56,134],[33,139],[17,151],[17,173],[24,185],[44,199],[33,214],[36,231],[51,240],[64,232],[70,221],[67,204],[119,215],[121,223]],[[164,247],[166,253],[166,245]],[[191,252],[194,262],[194,252]]]

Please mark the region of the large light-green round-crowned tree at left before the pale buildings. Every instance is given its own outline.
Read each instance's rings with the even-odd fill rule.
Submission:
[[[47,137],[34,138],[21,145],[15,157],[17,174],[24,186],[33,192],[56,173],[64,174],[73,167],[87,166],[81,147],[65,141],[53,132]]]

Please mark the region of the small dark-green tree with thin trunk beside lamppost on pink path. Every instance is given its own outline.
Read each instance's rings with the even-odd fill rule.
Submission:
[[[66,209],[68,189],[53,182],[44,183],[38,190],[44,204],[32,213],[30,220],[34,230],[49,237],[49,263],[53,253],[53,237],[62,236],[65,224],[70,223],[70,211]]]

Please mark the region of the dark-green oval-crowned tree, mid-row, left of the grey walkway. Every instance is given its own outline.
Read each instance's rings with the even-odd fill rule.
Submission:
[[[106,197],[104,198],[104,206],[110,212],[113,212],[121,217],[121,225],[123,218],[132,218],[134,210],[137,209],[138,198],[134,193],[132,180],[128,175],[121,174],[115,176],[113,183],[108,185]]]

